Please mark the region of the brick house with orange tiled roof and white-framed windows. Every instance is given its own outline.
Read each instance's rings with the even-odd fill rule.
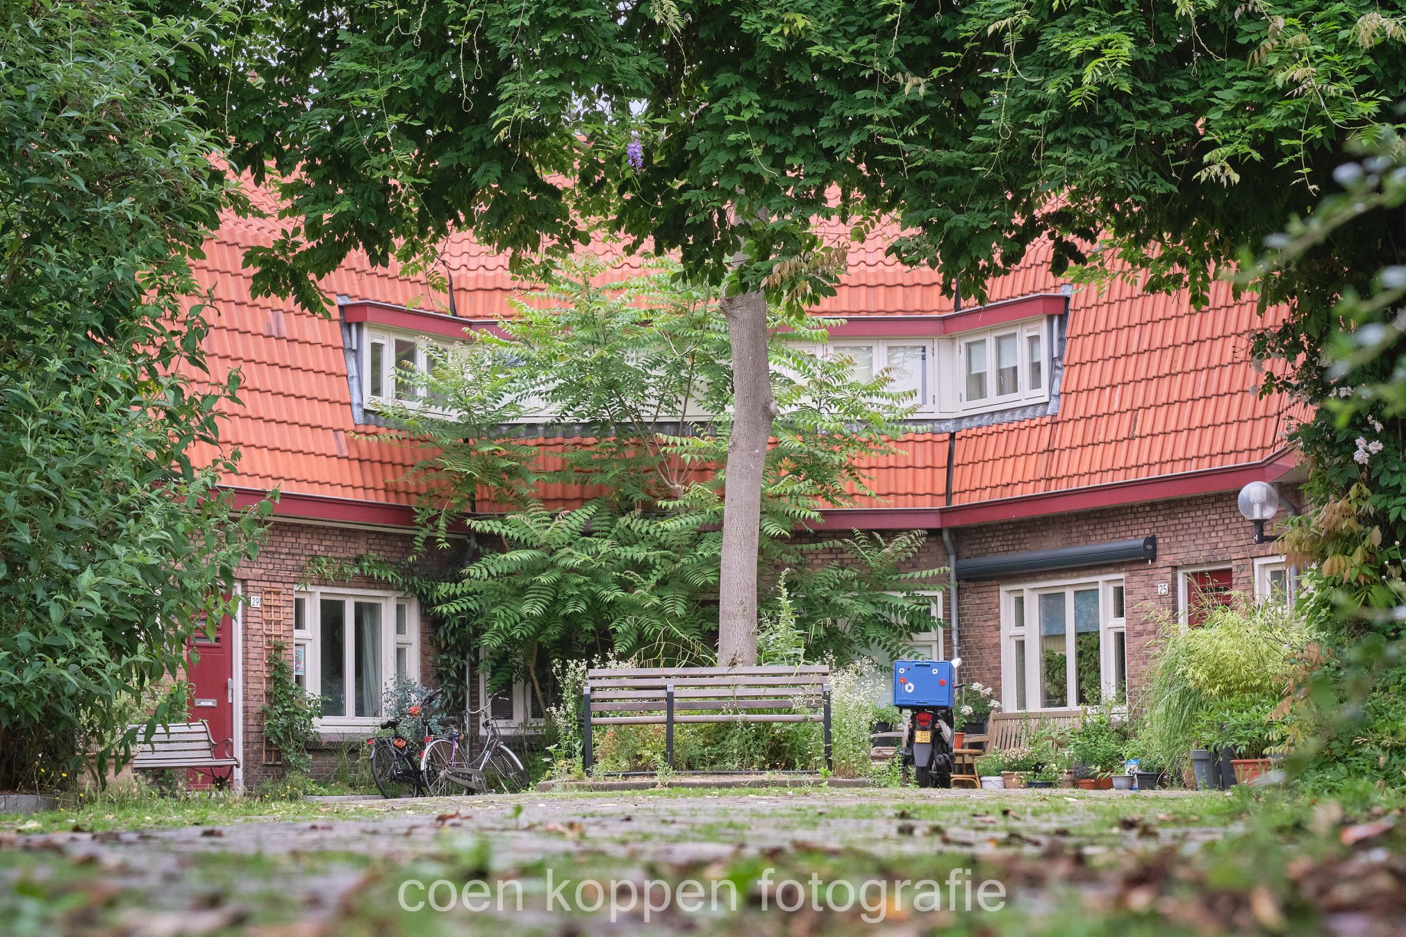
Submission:
[[[330,313],[309,315],[250,295],[243,250],[277,229],[226,218],[197,271],[218,309],[211,378],[245,378],[222,431],[240,452],[225,482],[245,503],[280,492],[267,545],[239,570],[243,608],[221,635],[229,691],[195,694],[215,704],[200,714],[212,725],[228,718],[245,782],[267,770],[259,708],[276,641],[329,698],[329,739],[364,736],[391,674],[433,679],[412,597],[311,576],[309,559],[411,552],[415,452],[377,438],[377,400],[394,393],[395,361],[423,365],[426,341],[492,327],[515,289],[502,257],[463,239],[446,253],[451,296],[354,256],[322,282]],[[856,368],[893,368],[920,400],[905,455],[866,466],[882,497],[828,511],[823,527],[928,531],[915,563],[952,565],[956,600],[935,600],[934,629],[915,643],[960,653],[965,677],[998,687],[1007,709],[1136,688],[1159,612],[1194,617],[1198,596],[1292,590],[1294,570],[1272,542],[1253,542],[1236,509],[1251,480],[1286,502],[1301,480],[1285,443],[1292,405],[1258,396],[1249,360],[1275,310],[1261,320],[1223,284],[1202,309],[1128,282],[1074,289],[1040,244],[983,305],[962,306],[932,271],[897,266],[875,242],[851,251],[838,295],[815,312],[846,319],[830,344]],[[494,714],[520,726],[529,694],[505,695]]]

